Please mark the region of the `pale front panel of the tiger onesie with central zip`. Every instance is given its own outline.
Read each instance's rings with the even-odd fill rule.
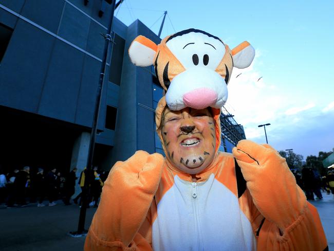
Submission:
[[[238,199],[213,174],[195,187],[177,175],[174,181],[157,206],[154,250],[256,250],[251,224]]]

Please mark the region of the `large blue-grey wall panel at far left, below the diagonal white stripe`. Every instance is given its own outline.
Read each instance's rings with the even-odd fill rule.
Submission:
[[[54,40],[18,20],[0,66],[0,104],[37,111]]]

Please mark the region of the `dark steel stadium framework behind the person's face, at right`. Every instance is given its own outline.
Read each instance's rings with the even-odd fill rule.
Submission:
[[[236,146],[239,140],[246,139],[244,127],[241,124],[238,124],[233,116],[234,115],[230,114],[224,106],[221,108],[220,128],[225,150],[225,138],[231,141],[234,146]]]

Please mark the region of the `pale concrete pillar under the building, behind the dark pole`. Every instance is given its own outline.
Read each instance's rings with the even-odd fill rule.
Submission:
[[[89,142],[90,133],[88,132],[82,132],[74,142],[71,158],[71,170],[75,167],[78,168],[76,173],[77,177],[80,177],[80,173],[87,165]],[[78,182],[79,179],[76,181],[76,192],[72,198],[75,198],[81,192]]]

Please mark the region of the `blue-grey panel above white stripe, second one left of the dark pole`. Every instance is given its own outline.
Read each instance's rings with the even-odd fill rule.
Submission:
[[[73,6],[66,4],[58,34],[60,37],[85,49],[90,22],[91,20],[88,16]]]

